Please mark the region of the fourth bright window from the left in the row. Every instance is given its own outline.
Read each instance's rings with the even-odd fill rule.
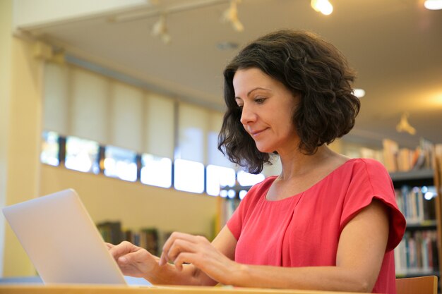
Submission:
[[[172,160],[143,154],[141,157],[141,183],[170,188],[172,185]]]

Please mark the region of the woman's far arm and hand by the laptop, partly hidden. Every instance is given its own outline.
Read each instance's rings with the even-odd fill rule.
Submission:
[[[187,235],[182,233],[173,233],[171,238],[176,235]],[[198,240],[207,239],[199,236],[192,236]],[[225,259],[234,258],[234,250],[237,245],[237,240],[227,227],[222,228],[215,240],[210,244],[220,255]],[[167,285],[215,285],[214,281],[203,271],[194,267],[193,264],[184,264],[180,267],[175,267],[172,264],[159,265],[160,258],[151,255],[144,248],[133,245],[129,242],[122,242],[119,245],[107,244],[109,252],[114,259],[117,260],[119,267],[123,274],[127,276],[136,276],[146,278],[153,284],[167,284]]]

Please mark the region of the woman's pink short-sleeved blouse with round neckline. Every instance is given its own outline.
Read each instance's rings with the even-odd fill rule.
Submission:
[[[373,293],[395,293],[393,249],[405,232],[388,172],[378,161],[350,159],[311,188],[265,199],[275,176],[254,185],[227,227],[238,240],[235,260],[280,267],[335,266],[340,233],[376,198],[389,209],[386,254]]]

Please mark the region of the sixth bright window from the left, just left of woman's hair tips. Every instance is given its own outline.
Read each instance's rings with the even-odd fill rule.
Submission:
[[[235,185],[235,170],[224,166],[209,164],[206,168],[207,184],[205,192],[208,195],[220,195],[220,188],[233,187]]]

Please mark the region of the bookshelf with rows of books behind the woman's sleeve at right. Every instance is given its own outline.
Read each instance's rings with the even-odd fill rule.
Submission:
[[[398,207],[407,219],[400,245],[395,248],[396,276],[440,277],[440,200],[436,196],[435,172],[420,169],[390,173]]]

